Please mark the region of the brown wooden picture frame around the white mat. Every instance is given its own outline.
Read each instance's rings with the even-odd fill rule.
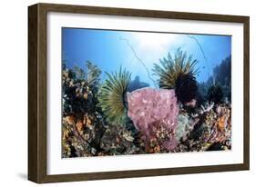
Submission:
[[[49,12],[93,15],[125,15],[182,20],[218,21],[243,24],[243,93],[244,133],[243,163],[122,172],[90,172],[48,175],[46,173],[46,15]],[[249,83],[250,18],[237,15],[208,15],[195,13],[138,10],[83,5],[36,4],[28,7],[28,180],[44,182],[73,182],[84,180],[145,177],[200,172],[242,171],[250,168],[250,83]]]

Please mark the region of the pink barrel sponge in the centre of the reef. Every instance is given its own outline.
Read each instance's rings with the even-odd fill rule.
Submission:
[[[164,125],[170,134],[175,133],[179,105],[174,90],[146,87],[128,93],[127,97],[128,116],[137,130],[148,139],[155,138],[157,134],[152,129],[158,128],[158,125]],[[169,151],[177,145],[173,136],[169,136],[169,140],[162,143]]]

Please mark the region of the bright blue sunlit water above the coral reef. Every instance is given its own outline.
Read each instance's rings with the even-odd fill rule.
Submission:
[[[199,83],[207,82],[213,69],[231,54],[230,35],[170,34],[63,28],[62,51],[68,68],[86,68],[87,61],[104,72],[118,71],[122,66],[132,73],[132,79],[155,86],[152,72],[159,59],[174,55],[177,49],[198,60],[196,75]]]

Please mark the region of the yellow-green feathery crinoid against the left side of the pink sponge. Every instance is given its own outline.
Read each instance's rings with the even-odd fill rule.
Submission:
[[[122,124],[127,119],[126,94],[131,74],[121,67],[119,72],[106,74],[108,78],[99,89],[99,106],[108,122]]]

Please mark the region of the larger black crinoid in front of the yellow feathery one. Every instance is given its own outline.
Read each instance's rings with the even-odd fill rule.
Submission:
[[[180,103],[189,103],[198,94],[198,83],[193,74],[179,74],[175,82],[175,94]]]

